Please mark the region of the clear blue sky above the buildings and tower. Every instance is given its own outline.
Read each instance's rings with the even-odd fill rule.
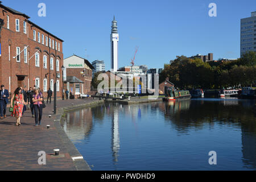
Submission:
[[[46,4],[46,17],[38,4]],[[213,59],[240,57],[240,19],[256,11],[256,1],[84,1],[2,0],[3,5],[30,16],[30,20],[64,40],[64,58],[75,53],[91,63],[104,60],[110,69],[110,30],[115,15],[119,32],[118,67],[130,65],[135,47],[136,65],[163,68],[177,55],[213,53]],[[216,3],[217,17],[210,17]],[[86,52],[85,52],[86,49]]]

